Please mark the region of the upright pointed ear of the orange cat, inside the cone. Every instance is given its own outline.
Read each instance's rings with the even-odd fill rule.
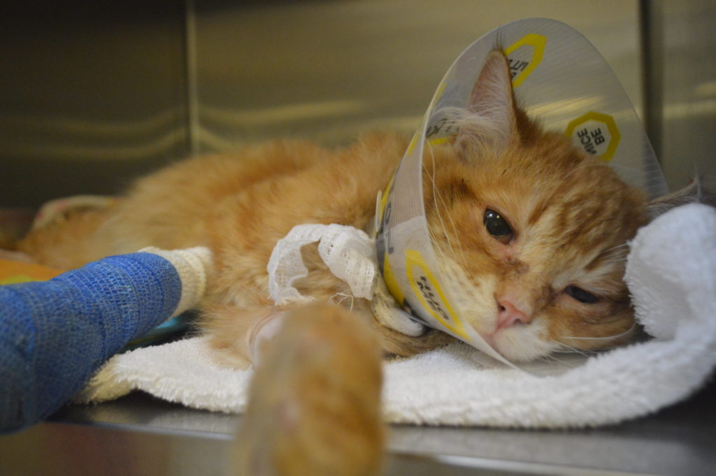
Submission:
[[[517,110],[512,77],[505,54],[494,49],[470,93],[468,115],[460,121],[458,142],[470,140],[502,149],[518,138]]]

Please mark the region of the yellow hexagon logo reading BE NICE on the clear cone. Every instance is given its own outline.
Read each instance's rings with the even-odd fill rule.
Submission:
[[[596,155],[604,162],[614,157],[621,134],[614,117],[601,112],[589,111],[569,122],[565,135],[576,147]]]

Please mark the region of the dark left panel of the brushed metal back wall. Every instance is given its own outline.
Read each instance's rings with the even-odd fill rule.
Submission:
[[[188,149],[180,1],[12,2],[0,15],[0,206],[116,193]]]

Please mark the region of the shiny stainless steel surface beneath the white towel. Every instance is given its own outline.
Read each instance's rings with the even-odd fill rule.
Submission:
[[[716,475],[716,384],[599,429],[393,426],[387,475]],[[137,392],[0,437],[0,475],[222,475],[239,417]]]

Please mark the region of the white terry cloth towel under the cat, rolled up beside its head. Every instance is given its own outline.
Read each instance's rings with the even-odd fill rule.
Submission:
[[[642,228],[627,283],[654,339],[596,356],[531,364],[537,377],[485,364],[455,343],[384,365],[388,422],[582,427],[655,412],[695,392],[716,364],[716,210],[692,204]],[[115,356],[81,396],[142,389],[190,407],[241,412],[251,371],[212,361],[203,338]]]

